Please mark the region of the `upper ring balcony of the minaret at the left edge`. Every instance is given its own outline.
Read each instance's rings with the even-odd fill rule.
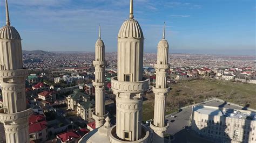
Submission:
[[[28,74],[28,69],[0,70],[0,78],[25,77]]]

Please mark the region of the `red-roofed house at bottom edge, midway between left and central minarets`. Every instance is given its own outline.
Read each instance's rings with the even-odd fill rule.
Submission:
[[[62,143],[77,143],[80,138],[80,135],[73,130],[57,134],[58,142]]]

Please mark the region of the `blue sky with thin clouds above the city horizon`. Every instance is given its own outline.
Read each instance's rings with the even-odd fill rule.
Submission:
[[[5,24],[4,0],[0,24]],[[129,19],[129,0],[8,0],[24,50],[94,52],[101,25],[106,52]],[[256,55],[255,0],[133,0],[144,51],[156,53],[166,22],[170,53]]]

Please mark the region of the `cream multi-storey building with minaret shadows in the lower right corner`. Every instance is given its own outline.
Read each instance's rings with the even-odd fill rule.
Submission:
[[[217,142],[256,142],[256,112],[212,106],[192,108],[192,130]]]

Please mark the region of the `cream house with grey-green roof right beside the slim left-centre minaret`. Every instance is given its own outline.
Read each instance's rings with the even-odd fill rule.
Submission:
[[[84,120],[91,120],[95,111],[95,101],[80,102],[77,104],[77,115]]]

